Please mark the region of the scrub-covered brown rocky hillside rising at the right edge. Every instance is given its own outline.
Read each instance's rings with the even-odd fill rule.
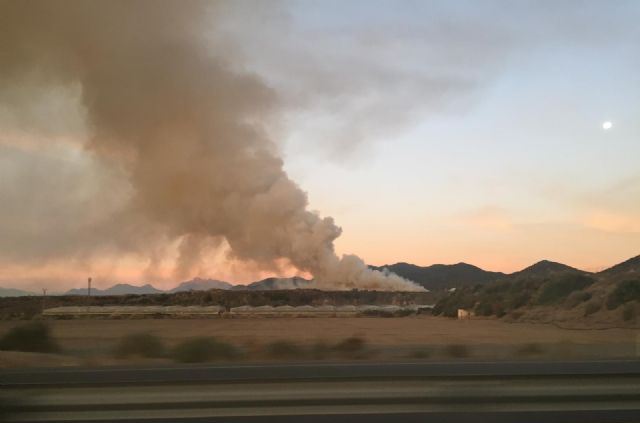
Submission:
[[[434,313],[455,317],[458,309],[507,320],[634,326],[640,319],[640,257],[599,273],[541,262],[456,290],[438,301]]]

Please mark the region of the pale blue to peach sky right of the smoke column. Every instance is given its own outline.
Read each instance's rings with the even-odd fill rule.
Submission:
[[[640,253],[640,3],[287,6],[242,50],[293,104],[285,165],[340,250],[502,271]]]

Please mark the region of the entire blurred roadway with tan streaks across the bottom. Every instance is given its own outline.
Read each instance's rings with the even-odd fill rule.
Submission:
[[[640,361],[20,369],[0,388],[16,422],[640,422]]]

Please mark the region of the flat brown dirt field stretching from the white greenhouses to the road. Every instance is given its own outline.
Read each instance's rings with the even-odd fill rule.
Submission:
[[[0,321],[0,336],[19,324]],[[211,336],[247,351],[258,351],[275,341],[304,348],[358,337],[378,359],[634,357],[640,340],[640,332],[632,329],[568,330],[549,324],[431,316],[54,320],[48,324],[67,354],[85,358],[109,357],[123,336],[135,333],[156,335],[169,346]],[[252,356],[256,357],[261,358]]]

